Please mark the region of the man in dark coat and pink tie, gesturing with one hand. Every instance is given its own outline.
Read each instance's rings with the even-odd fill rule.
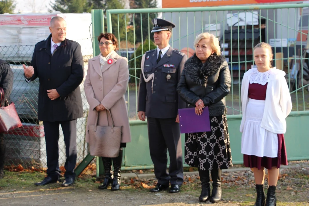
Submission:
[[[83,81],[81,46],[66,39],[66,21],[53,17],[47,40],[36,44],[30,66],[24,66],[27,82],[39,78],[38,118],[43,121],[48,176],[35,185],[46,185],[59,180],[59,125],[66,144],[65,181],[74,183],[76,166],[76,123],[83,116],[79,84]]]

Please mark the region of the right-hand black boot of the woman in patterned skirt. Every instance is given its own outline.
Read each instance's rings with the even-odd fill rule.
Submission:
[[[213,191],[211,192],[210,202],[216,203],[221,200],[221,169],[210,170],[211,179],[213,180]]]

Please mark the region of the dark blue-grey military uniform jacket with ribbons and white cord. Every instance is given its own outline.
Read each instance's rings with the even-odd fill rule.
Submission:
[[[147,51],[144,55],[145,77],[154,73],[155,78],[151,90],[152,81],[145,82],[141,72],[138,111],[145,111],[146,116],[152,118],[176,118],[178,109],[186,107],[176,89],[184,63],[188,59],[187,55],[171,46],[158,64],[157,49]]]

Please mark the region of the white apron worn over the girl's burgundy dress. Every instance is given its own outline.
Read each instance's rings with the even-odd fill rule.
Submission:
[[[249,99],[241,137],[241,153],[257,157],[278,156],[278,136],[261,127],[265,100]]]

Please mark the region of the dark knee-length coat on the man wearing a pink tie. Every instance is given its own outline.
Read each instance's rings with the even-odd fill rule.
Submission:
[[[65,39],[51,54],[51,35],[36,44],[30,65],[34,74],[30,81],[39,78],[38,118],[41,121],[68,121],[83,116],[79,84],[83,81],[81,46]],[[56,89],[60,97],[50,100],[47,90]]]

